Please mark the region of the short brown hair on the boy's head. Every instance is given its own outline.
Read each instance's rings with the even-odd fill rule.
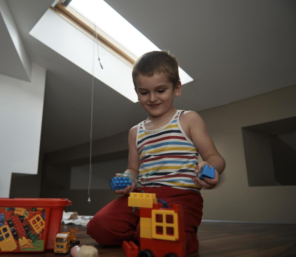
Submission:
[[[168,80],[177,86],[179,78],[178,60],[167,51],[152,51],[143,54],[133,65],[133,84],[136,87],[136,76],[152,77],[155,73],[164,73]]]

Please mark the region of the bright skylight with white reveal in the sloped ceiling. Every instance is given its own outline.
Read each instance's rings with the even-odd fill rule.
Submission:
[[[58,2],[57,4],[55,4],[56,1]],[[97,68],[92,70],[89,66],[92,63],[89,60],[90,51],[92,51],[92,47],[89,47],[90,42],[85,41],[80,36],[78,37],[78,35],[74,36],[76,32],[70,28],[64,30],[66,27],[61,22],[59,22],[61,24],[58,26],[59,28],[55,27],[55,33],[52,36],[50,36],[52,30],[49,30],[46,34],[44,34],[44,31],[41,31],[40,26],[54,27],[53,24],[58,22],[49,12],[46,12],[42,19],[39,20],[38,24],[31,30],[30,35],[35,36],[38,40],[90,74],[94,72],[94,77],[132,102],[137,102],[131,79],[133,64],[142,54],[155,50],[159,51],[160,49],[103,0],[56,1],[51,8],[56,14],[91,39],[93,39],[96,32],[99,44],[98,51],[104,70]],[[69,2],[70,4],[67,5]],[[70,30],[72,34],[74,33],[75,44],[65,44],[67,46],[65,49],[63,47],[64,44],[61,44],[61,42],[69,39],[67,35],[69,35]],[[63,31],[65,32],[63,33]],[[56,38],[57,41],[54,41],[53,38]],[[84,46],[83,55],[77,51],[81,46]],[[109,55],[107,52],[109,52]],[[97,55],[97,53],[94,54]],[[81,59],[82,56],[84,57],[83,59]],[[106,57],[105,60],[104,57]],[[97,65],[95,64],[95,66]],[[118,76],[114,76],[114,70],[117,70]],[[180,67],[179,76],[182,84],[193,81]]]

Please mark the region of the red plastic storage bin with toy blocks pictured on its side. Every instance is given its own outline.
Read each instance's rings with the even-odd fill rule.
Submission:
[[[63,198],[0,198],[0,253],[52,250],[67,205]]]

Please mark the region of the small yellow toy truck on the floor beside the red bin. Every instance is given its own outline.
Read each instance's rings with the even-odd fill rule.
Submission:
[[[76,239],[77,230],[69,229],[70,232],[57,233],[54,242],[54,253],[68,253],[70,249],[79,245],[80,241]]]

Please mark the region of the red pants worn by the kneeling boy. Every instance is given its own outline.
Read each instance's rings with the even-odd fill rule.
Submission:
[[[186,232],[186,253],[198,250],[195,229],[202,219],[202,196],[191,190],[172,187],[142,187],[145,193],[156,193],[158,199],[183,205],[184,226]],[[135,192],[141,192],[136,190]],[[140,242],[140,211],[128,207],[128,196],[118,197],[102,208],[87,224],[89,234],[100,245],[122,245],[123,240]]]

